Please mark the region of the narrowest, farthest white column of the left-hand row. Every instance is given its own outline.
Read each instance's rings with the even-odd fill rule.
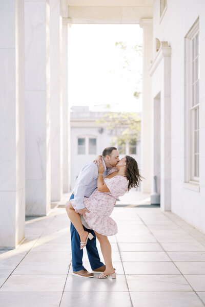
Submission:
[[[68,104],[68,30],[69,19],[63,18],[62,85],[63,85],[63,192],[70,191],[70,113]]]

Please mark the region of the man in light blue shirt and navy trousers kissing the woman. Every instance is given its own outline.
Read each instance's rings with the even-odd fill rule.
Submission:
[[[119,162],[119,152],[115,147],[107,147],[102,153],[103,164],[105,167],[103,176],[107,176],[107,168],[116,166]],[[96,235],[93,230],[90,229],[85,222],[83,216],[86,212],[89,212],[84,206],[84,197],[89,197],[97,187],[97,164],[90,162],[87,163],[80,171],[77,181],[74,186],[73,193],[70,197],[75,199],[77,210],[81,214],[81,221],[86,231],[91,232],[94,238],[88,240],[86,245],[90,266],[95,273],[104,272],[106,266],[100,261],[99,254],[96,247]],[[83,249],[80,250],[80,237],[77,230],[71,223],[71,249],[72,249],[72,266],[73,275],[78,277],[90,278],[93,277],[93,273],[89,273],[83,266]]]

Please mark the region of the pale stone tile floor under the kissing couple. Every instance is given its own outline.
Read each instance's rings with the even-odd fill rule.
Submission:
[[[204,234],[160,208],[116,207],[112,217],[116,279],[71,275],[70,222],[55,207],[26,222],[17,249],[0,249],[0,306],[205,306]],[[91,270],[86,251],[84,265]]]

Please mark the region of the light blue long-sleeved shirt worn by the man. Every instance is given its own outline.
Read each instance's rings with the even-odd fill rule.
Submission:
[[[104,172],[103,177],[107,176],[107,168],[104,159]],[[77,209],[83,209],[84,206],[84,197],[89,197],[92,192],[97,187],[97,174],[98,168],[97,164],[94,162],[87,163],[80,171],[73,192],[74,192],[74,200]]]

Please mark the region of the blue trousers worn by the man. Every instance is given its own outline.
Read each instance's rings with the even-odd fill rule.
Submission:
[[[74,195],[72,194],[70,197],[70,200],[74,199]],[[90,266],[92,270],[95,270],[101,266],[103,266],[103,262],[100,261],[98,250],[96,247],[96,235],[95,232],[91,229],[87,229],[85,226],[84,230],[91,232],[94,238],[92,240],[88,239],[88,243],[86,245],[87,253],[88,253],[88,259],[90,261]],[[72,249],[72,265],[73,265],[73,271],[77,272],[80,270],[85,269],[83,266],[83,249],[80,250],[80,237],[71,223],[70,227],[71,231],[71,249]]]

